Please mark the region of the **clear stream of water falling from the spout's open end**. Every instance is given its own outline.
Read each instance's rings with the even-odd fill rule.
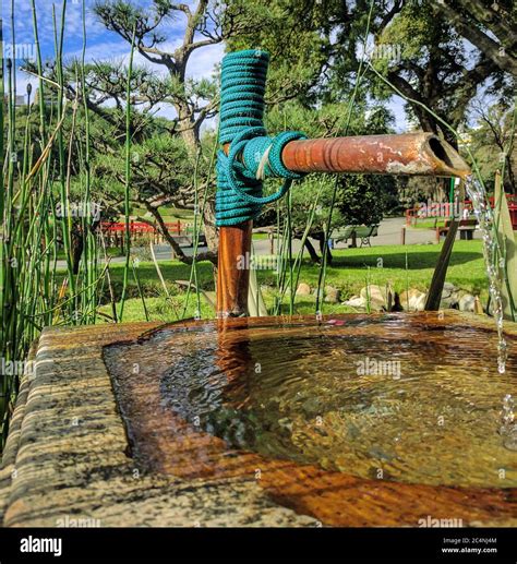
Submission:
[[[501,279],[494,264],[494,256],[498,250],[497,238],[493,233],[493,213],[486,203],[486,192],[483,184],[473,175],[465,179],[465,188],[472,201],[473,212],[479,224],[481,237],[483,239],[483,256],[489,278],[489,292],[492,301],[492,313],[497,328],[497,370],[504,374],[506,370],[507,347],[503,334],[503,298],[501,295]],[[500,254],[501,255],[501,254]]]

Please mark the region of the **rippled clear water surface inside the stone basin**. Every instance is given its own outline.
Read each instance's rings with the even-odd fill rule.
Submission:
[[[262,323],[171,327],[111,347],[119,401],[136,363],[160,409],[229,449],[363,478],[517,485],[515,444],[501,433],[503,399],[517,391],[515,337],[500,374],[495,331],[433,314]]]

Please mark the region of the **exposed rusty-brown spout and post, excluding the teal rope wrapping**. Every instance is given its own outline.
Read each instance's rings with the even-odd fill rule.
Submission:
[[[228,153],[229,145],[224,149]],[[433,133],[360,135],[291,141],[282,151],[294,172],[340,172],[466,177],[470,168],[459,154]],[[253,221],[221,227],[217,287],[219,316],[245,315],[249,273],[238,264],[250,255]]]

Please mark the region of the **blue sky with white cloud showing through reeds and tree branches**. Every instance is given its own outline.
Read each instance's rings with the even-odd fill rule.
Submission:
[[[56,17],[58,25],[61,17],[62,1],[57,0],[35,0],[38,22],[38,33],[40,48],[44,59],[52,58],[55,53],[53,47],[53,23],[52,23],[52,4],[56,4]],[[118,62],[127,62],[129,57],[129,45],[125,40],[120,38],[116,33],[108,32],[104,25],[97,20],[93,13],[94,0],[86,0],[86,34],[87,34],[87,49],[86,59],[106,60],[111,59]],[[139,5],[145,7],[151,2],[149,0],[140,0]],[[192,3],[192,0],[187,3]],[[82,0],[68,0],[67,2],[67,20],[65,20],[65,38],[64,38],[64,55],[65,58],[80,57],[83,48],[83,5]],[[12,43],[11,34],[11,0],[0,0],[2,9],[2,16],[4,22],[4,43],[10,45]],[[19,49],[26,49],[22,52],[34,52],[34,32],[32,22],[31,0],[15,0],[14,1],[15,15],[15,35]],[[163,25],[161,32],[167,36],[165,47],[173,49],[182,38],[184,29],[184,21],[178,19],[177,21],[167,21]],[[19,51],[20,52],[20,51]],[[224,53],[224,45],[204,47],[197,49],[192,55],[188,73],[193,77],[211,76],[214,65],[218,63]],[[17,65],[23,61],[20,60]],[[135,57],[135,64],[149,65],[145,59],[140,55]],[[165,69],[156,65],[156,72],[164,73]],[[31,82],[36,86],[36,81],[24,73],[17,73],[17,91],[19,94],[25,93],[27,83]],[[407,128],[406,117],[404,112],[404,100],[394,97],[388,107],[395,113],[396,129],[402,131]],[[171,117],[171,110],[166,109],[161,115]]]

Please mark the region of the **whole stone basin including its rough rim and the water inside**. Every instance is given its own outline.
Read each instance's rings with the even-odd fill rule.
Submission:
[[[517,391],[458,312],[46,329],[3,466],[8,526],[517,525]],[[423,521],[422,521],[423,519]]]

